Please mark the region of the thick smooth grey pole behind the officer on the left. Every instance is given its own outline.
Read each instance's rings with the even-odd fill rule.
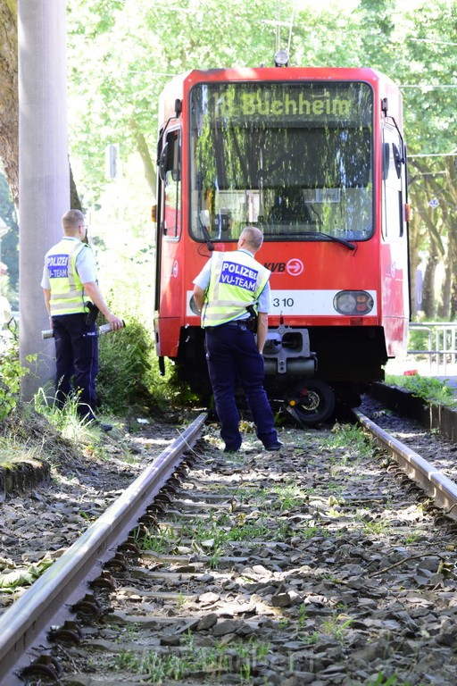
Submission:
[[[49,322],[40,281],[70,209],[65,10],[65,0],[18,2],[20,356],[31,370],[22,381],[25,400],[54,377],[54,340],[41,338]]]

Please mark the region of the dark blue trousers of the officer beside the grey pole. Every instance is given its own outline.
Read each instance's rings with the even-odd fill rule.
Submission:
[[[73,389],[78,390],[80,393],[79,416],[94,419],[98,334],[96,324],[87,326],[84,318],[85,314],[61,314],[53,317],[56,364],[55,402],[57,406],[62,407]]]

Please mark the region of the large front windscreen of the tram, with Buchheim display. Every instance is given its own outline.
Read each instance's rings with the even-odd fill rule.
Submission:
[[[208,83],[191,91],[191,234],[370,238],[372,91],[358,82]]]

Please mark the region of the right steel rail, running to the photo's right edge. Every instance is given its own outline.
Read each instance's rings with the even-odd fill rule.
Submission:
[[[381,429],[378,424],[368,417],[353,409],[357,422],[370,431],[381,448],[385,448],[403,471],[420,485],[420,488],[433,498],[437,506],[445,510],[445,515],[457,521],[457,483],[448,479],[445,474],[439,472],[433,464],[389,433]]]

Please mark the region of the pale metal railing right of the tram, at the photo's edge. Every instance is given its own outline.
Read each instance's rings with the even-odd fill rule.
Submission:
[[[419,330],[421,349],[410,349],[409,356],[424,356],[428,359],[429,372],[446,374],[448,365],[457,364],[457,322],[423,322],[410,324],[411,331]],[[411,341],[411,335],[410,335]]]

